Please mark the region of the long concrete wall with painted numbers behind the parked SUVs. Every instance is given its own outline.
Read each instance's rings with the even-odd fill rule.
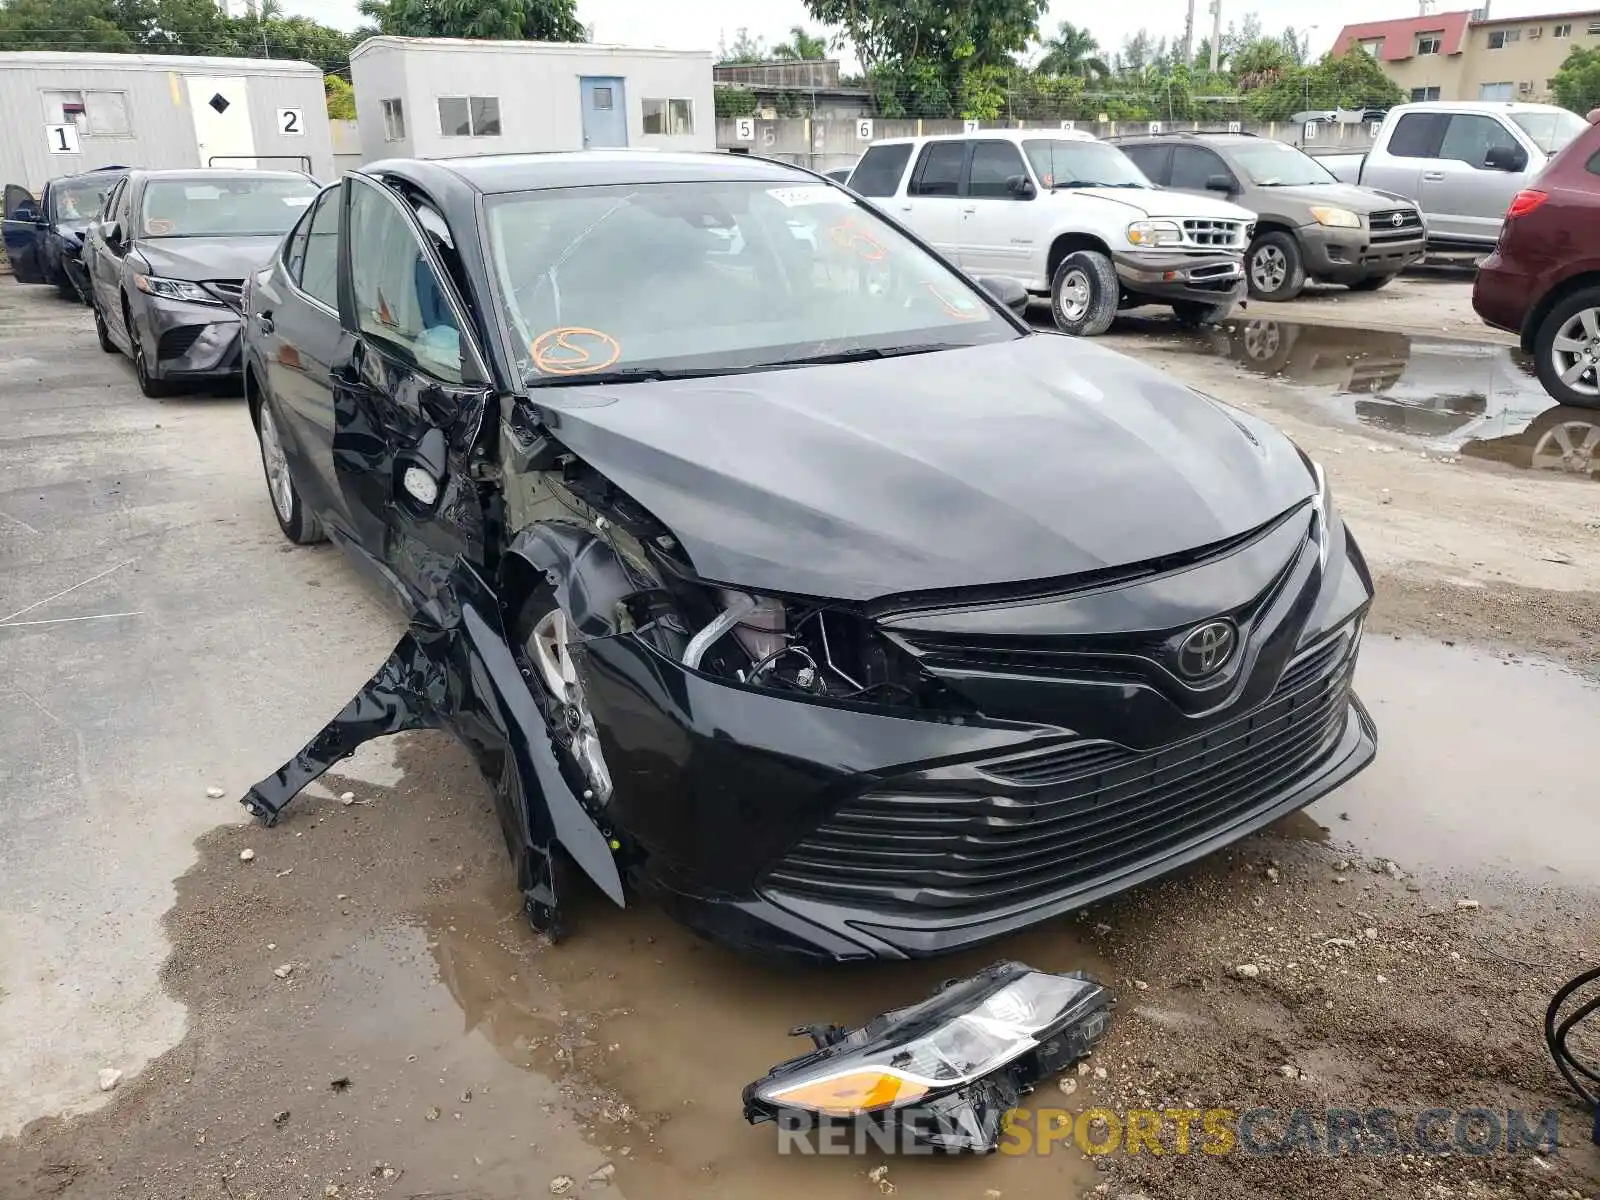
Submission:
[[[782,162],[810,166],[814,171],[832,171],[851,166],[872,141],[880,138],[917,138],[934,133],[962,133],[965,122],[960,120],[874,120],[872,138],[861,138],[861,122],[856,120],[808,120],[803,117],[787,120],[752,120],[749,139],[739,138],[741,122],[722,118],[717,122],[717,146],[725,150],[747,150],[763,158],[779,158]],[[979,128],[989,130],[1040,130],[1048,133],[1059,130],[1061,122],[981,122]],[[1112,138],[1115,134],[1149,133],[1150,122],[1078,122],[1078,130],[1093,133],[1096,138]],[[1243,123],[1245,133],[1259,138],[1275,138],[1277,141],[1299,146],[1309,154],[1350,150],[1355,154],[1371,149],[1373,136],[1368,123],[1333,125],[1318,122],[1314,136],[1307,138],[1307,126],[1288,122],[1264,125]],[[1162,130],[1206,130],[1226,133],[1229,125],[1202,122],[1163,122]]]

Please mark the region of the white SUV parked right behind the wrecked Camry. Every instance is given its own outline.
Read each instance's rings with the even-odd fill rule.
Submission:
[[[1245,290],[1254,213],[1162,190],[1086,133],[891,138],[867,149],[850,187],[968,275],[1048,293],[1062,333],[1104,333],[1138,304],[1211,323]]]

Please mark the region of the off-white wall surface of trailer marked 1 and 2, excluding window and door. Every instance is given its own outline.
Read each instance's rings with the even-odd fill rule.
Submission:
[[[195,144],[187,80],[238,77],[245,80],[250,126],[258,163],[296,166],[310,158],[310,171],[333,178],[333,147],[322,72],[306,62],[272,59],[187,58],[165,54],[0,54],[0,182],[37,192],[46,179],[120,163],[152,170],[205,166]],[[130,136],[93,136],[78,128],[77,154],[53,154],[45,126],[46,91],[122,93]],[[85,96],[93,106],[93,98]],[[278,130],[278,109],[299,109],[304,133]],[[282,157],[280,157],[282,155]]]

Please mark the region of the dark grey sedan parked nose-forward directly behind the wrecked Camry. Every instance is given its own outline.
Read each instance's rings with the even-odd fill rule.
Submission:
[[[288,171],[130,171],[83,243],[94,331],[149,397],[238,378],[238,296],[315,198]]]

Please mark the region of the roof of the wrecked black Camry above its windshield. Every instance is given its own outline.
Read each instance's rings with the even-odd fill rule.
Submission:
[[[554,150],[470,158],[386,158],[360,168],[398,176],[435,192],[466,186],[474,192],[531,192],[547,187],[664,182],[806,182],[818,176],[754,154],[662,150]]]

